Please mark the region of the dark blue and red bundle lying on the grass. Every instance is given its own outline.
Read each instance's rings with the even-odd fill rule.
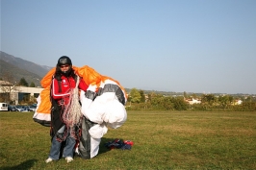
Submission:
[[[131,140],[123,140],[116,138],[113,141],[106,142],[105,147],[108,149],[121,149],[121,150],[131,150],[134,142]]]

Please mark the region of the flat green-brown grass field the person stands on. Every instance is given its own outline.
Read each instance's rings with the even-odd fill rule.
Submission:
[[[128,111],[97,157],[46,164],[49,128],[33,112],[0,112],[0,169],[256,169],[256,112]],[[115,138],[131,150],[108,150]]]

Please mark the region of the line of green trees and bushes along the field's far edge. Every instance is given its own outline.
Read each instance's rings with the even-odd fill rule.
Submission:
[[[190,105],[186,100],[199,99],[200,103]],[[241,104],[237,101],[241,100]],[[200,96],[186,92],[182,96],[166,96],[154,92],[144,94],[143,90],[132,88],[126,109],[169,109],[169,110],[238,110],[256,111],[255,96],[232,96],[202,94]]]

